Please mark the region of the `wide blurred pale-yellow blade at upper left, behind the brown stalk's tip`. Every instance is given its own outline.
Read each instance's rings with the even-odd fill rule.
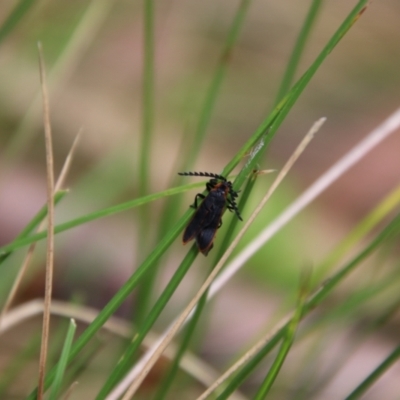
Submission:
[[[48,87],[52,88],[52,92],[60,88],[78,67],[79,60],[97,37],[98,30],[109,16],[113,4],[114,2],[110,0],[92,0],[82,13],[82,18],[49,73]],[[39,125],[40,103],[41,93],[38,91],[7,144],[0,160],[2,163],[0,172],[10,168],[12,163],[16,163],[29,147]]]

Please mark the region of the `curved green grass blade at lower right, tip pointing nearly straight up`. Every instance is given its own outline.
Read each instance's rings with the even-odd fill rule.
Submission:
[[[254,400],[262,400],[266,398],[267,394],[269,393],[272,387],[272,384],[275,382],[275,379],[278,376],[278,373],[283,365],[283,362],[285,361],[287,355],[289,354],[289,350],[294,342],[294,337],[297,331],[297,327],[301,321],[301,316],[303,315],[304,304],[309,294],[310,280],[311,280],[310,271],[304,271],[300,279],[300,289],[297,300],[297,307],[294,311],[294,316],[292,320],[289,322],[285,337],[283,338],[283,343],[278,351],[277,356],[275,357],[274,362],[272,363],[272,366],[267,376],[265,377],[263,383],[261,384],[260,389],[254,396]]]

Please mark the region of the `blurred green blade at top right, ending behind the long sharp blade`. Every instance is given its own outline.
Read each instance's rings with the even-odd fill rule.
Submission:
[[[318,12],[321,8],[321,4],[322,0],[313,0],[310,5],[310,9],[308,10],[308,14],[306,16],[306,19],[304,20],[303,26],[294,45],[292,54],[287,63],[287,67],[283,75],[282,82],[278,90],[278,94],[276,96],[275,104],[279,103],[279,101],[282,100],[283,96],[290,89],[290,86],[294,79],[294,75],[299,66],[300,57],[304,51],[306,41],[310,36],[311,29],[316,21]]]

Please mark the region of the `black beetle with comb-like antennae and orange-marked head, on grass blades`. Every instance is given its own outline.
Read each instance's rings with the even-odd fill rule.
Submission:
[[[228,181],[224,176],[213,174],[210,172],[178,172],[183,176],[206,176],[210,177],[206,188],[208,194],[204,196],[201,193],[196,194],[192,208],[196,209],[193,218],[183,233],[183,244],[196,239],[196,244],[205,256],[213,248],[214,238],[217,229],[222,225],[222,214],[225,207],[229,211],[234,211],[237,217],[243,221],[235,199],[238,197],[238,192],[233,190],[232,182]],[[203,199],[198,206],[198,199]]]

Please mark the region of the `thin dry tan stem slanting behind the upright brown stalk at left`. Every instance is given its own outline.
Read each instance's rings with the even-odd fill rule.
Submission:
[[[65,159],[63,168],[61,169],[60,176],[57,179],[57,182],[56,182],[56,185],[55,185],[55,188],[54,188],[54,191],[55,191],[55,193],[54,193],[54,204],[57,204],[57,202],[56,202],[57,191],[60,190],[61,186],[64,184],[64,181],[65,181],[65,179],[66,179],[66,177],[68,175],[68,171],[69,171],[69,168],[70,168],[71,162],[72,162],[72,156],[73,156],[73,154],[75,152],[75,149],[76,149],[76,146],[78,144],[80,133],[81,132],[79,132],[78,135],[75,137],[75,140],[72,143],[71,149],[68,152],[67,158]],[[39,225],[38,231],[41,231],[43,229],[43,226],[44,226],[44,220],[42,220],[41,224]],[[22,282],[22,279],[25,276],[25,273],[26,273],[26,271],[28,269],[28,265],[30,264],[32,256],[33,256],[33,252],[35,251],[35,247],[36,247],[36,243],[32,243],[31,246],[29,247],[28,252],[27,252],[27,254],[25,256],[25,259],[22,262],[22,266],[21,266],[21,268],[20,268],[20,270],[19,270],[19,272],[18,272],[18,274],[17,274],[17,276],[16,276],[16,278],[14,280],[14,283],[13,283],[13,285],[11,287],[10,293],[7,296],[6,302],[5,302],[4,307],[3,307],[2,311],[1,311],[1,314],[0,314],[0,326],[1,326],[1,320],[3,318],[3,315],[8,311],[9,307],[11,306],[11,304],[12,304],[14,298],[15,298],[15,295],[17,293],[17,290],[18,290],[18,288],[19,288],[19,286],[20,286],[20,284]]]

